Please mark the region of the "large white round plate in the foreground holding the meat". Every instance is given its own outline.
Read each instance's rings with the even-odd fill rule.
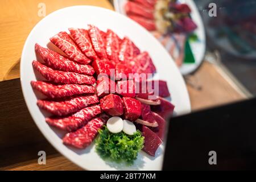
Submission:
[[[22,92],[32,118],[48,141],[72,162],[84,169],[114,170],[114,169],[142,169],[159,170],[162,168],[164,146],[159,147],[155,158],[140,152],[133,166],[105,162],[95,152],[94,144],[85,150],[75,150],[65,146],[61,137],[63,132],[53,129],[45,122],[45,116],[36,105],[38,94],[31,88],[30,82],[36,80],[32,68],[32,60],[36,59],[34,46],[39,43],[47,47],[49,38],[60,31],[68,31],[69,27],[86,28],[87,24],[95,24],[102,30],[107,28],[115,31],[119,36],[127,35],[142,50],[148,51],[154,60],[159,78],[168,82],[171,90],[172,103],[176,106],[176,114],[188,113],[191,110],[187,88],[183,77],[171,57],[161,44],[144,28],[125,16],[114,11],[93,6],[73,6],[55,11],[42,19],[30,32],[23,48],[20,61],[20,81]]]

